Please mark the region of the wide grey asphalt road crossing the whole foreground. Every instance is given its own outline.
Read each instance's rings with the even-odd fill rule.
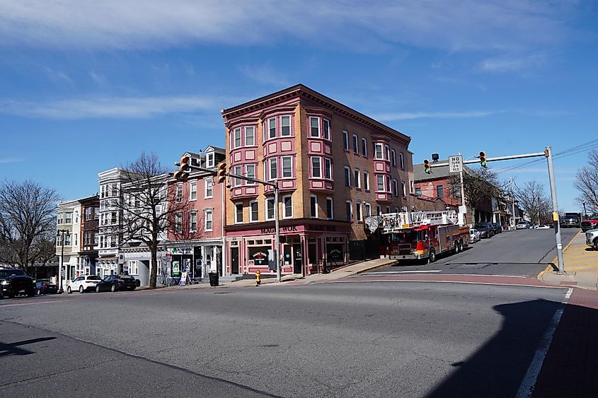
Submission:
[[[361,282],[2,300],[0,396],[513,397],[565,293]]]

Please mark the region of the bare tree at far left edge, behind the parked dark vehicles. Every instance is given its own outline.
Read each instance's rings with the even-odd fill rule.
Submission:
[[[0,186],[0,262],[29,273],[36,262],[54,257],[56,205],[54,189],[37,182],[4,181]]]

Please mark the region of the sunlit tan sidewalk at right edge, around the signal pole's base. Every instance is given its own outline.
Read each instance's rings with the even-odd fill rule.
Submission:
[[[554,266],[548,266],[538,275],[538,279],[556,286],[598,288],[598,251],[585,244],[585,233],[581,230],[563,250],[563,260],[565,274],[559,275],[554,269],[558,267],[554,259]]]

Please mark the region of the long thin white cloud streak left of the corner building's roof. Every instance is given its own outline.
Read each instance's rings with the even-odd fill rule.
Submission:
[[[230,99],[200,96],[94,98],[26,102],[0,100],[0,112],[24,117],[47,119],[139,118],[168,113],[195,113],[218,110],[219,104]]]

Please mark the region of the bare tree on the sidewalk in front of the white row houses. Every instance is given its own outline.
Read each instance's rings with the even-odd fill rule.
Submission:
[[[120,235],[121,242],[142,242],[149,249],[149,288],[156,288],[160,245],[163,245],[168,232],[178,233],[181,230],[178,215],[188,214],[190,210],[188,201],[179,200],[177,192],[168,189],[168,180],[171,179],[168,172],[155,153],[142,153],[137,160],[125,166],[122,197],[115,202],[121,214],[121,222],[115,232]],[[198,234],[200,232],[196,231],[187,238],[196,238]]]

